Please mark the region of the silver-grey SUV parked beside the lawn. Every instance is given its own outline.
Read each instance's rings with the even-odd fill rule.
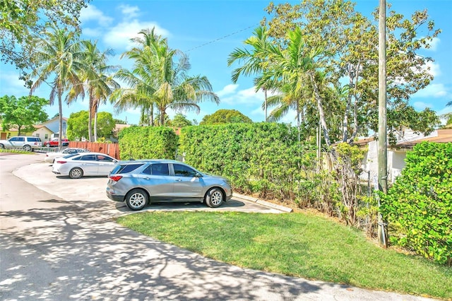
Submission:
[[[218,207],[232,198],[227,179],[176,160],[121,161],[109,175],[106,192],[109,199],[125,201],[131,210],[162,201],[198,201]]]

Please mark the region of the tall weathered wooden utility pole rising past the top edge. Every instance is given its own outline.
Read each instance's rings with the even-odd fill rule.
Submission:
[[[388,192],[388,137],[386,121],[386,0],[379,0],[379,190]],[[380,201],[379,201],[380,202]],[[379,213],[379,242],[387,247],[386,223]]]

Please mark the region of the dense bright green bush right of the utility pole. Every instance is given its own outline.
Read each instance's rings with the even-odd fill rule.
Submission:
[[[441,264],[452,264],[452,143],[420,143],[381,212],[397,233],[390,241]],[[390,233],[391,234],[391,233]]]

